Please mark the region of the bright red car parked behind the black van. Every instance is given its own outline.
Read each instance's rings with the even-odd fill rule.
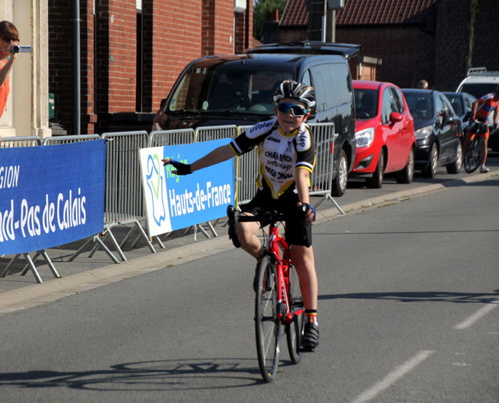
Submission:
[[[383,186],[385,173],[398,183],[414,177],[414,119],[401,89],[392,83],[353,80],[357,151],[350,176],[366,178],[367,187]]]

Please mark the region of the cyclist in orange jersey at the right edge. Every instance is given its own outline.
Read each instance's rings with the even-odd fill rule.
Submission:
[[[475,120],[478,121],[486,121],[489,114],[494,112],[493,114],[493,128],[497,130],[498,121],[499,121],[499,85],[496,87],[495,92],[491,92],[490,94],[486,94],[482,96],[482,98],[478,98],[473,105],[471,105],[471,116],[470,123],[475,123]],[[485,161],[487,160],[487,142],[489,141],[489,126],[487,127],[487,131],[484,133],[480,133],[480,136],[485,140],[485,150],[484,150],[484,159],[482,161],[482,165],[480,166],[480,172],[487,173],[489,172],[489,168],[485,166]],[[471,126],[466,133],[466,139],[464,140],[464,151],[463,155],[468,151],[469,144],[471,142],[471,132],[474,128],[474,125]]]

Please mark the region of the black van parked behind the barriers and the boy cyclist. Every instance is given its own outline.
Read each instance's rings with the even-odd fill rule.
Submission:
[[[273,94],[282,80],[312,85],[317,107],[308,121],[335,123],[331,193],[342,196],[356,153],[348,59],[359,51],[358,45],[295,42],[194,60],[161,101],[153,129],[253,125],[274,115]]]

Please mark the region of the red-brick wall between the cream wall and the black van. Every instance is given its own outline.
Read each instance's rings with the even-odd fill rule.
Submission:
[[[236,15],[234,0],[142,3],[137,15],[135,1],[96,1],[94,16],[94,1],[80,0],[82,133],[119,130],[111,127],[119,119],[128,119],[123,130],[149,130],[146,120],[191,60],[252,46],[252,0]],[[49,0],[49,91],[55,93],[54,121],[68,134],[73,131],[72,5]]]

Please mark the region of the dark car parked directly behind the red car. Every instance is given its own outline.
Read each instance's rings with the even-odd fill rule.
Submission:
[[[462,165],[463,130],[448,98],[430,89],[402,89],[414,117],[416,136],[415,169],[434,178],[437,167],[458,173]]]

